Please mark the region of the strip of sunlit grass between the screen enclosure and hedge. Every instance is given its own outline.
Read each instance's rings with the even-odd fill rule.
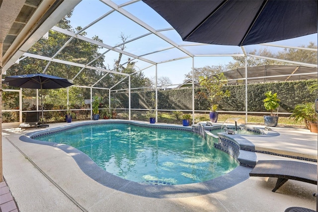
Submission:
[[[146,116],[145,111],[133,110],[131,113],[132,120],[141,120],[141,121],[149,121],[149,117]],[[158,112],[158,122],[159,123],[170,123],[170,124],[178,124],[182,125],[182,118],[177,118],[177,115],[172,112]],[[118,118],[128,119],[128,111],[124,113],[118,113]],[[224,122],[228,118],[242,118],[245,120],[245,115],[242,114],[222,114],[219,113],[218,122]],[[200,121],[210,121],[209,114],[203,113],[195,113],[194,114],[194,122],[198,123]],[[247,123],[248,124],[264,124],[263,115],[247,115]],[[291,125],[297,126],[301,128],[306,128],[304,121],[295,121],[294,118],[279,116],[278,125]]]

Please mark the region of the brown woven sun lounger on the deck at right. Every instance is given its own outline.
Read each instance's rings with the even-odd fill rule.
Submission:
[[[275,192],[288,180],[317,185],[317,165],[289,160],[263,160],[256,163],[249,176],[278,178],[276,186],[272,190]]]

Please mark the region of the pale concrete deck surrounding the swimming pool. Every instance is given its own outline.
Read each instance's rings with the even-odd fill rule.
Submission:
[[[67,123],[50,124],[49,128]],[[263,126],[261,126],[263,127]],[[97,183],[59,148],[23,142],[21,135],[43,129],[2,129],[3,176],[21,212],[64,211],[271,211],[289,207],[316,209],[317,186],[289,180],[275,193],[275,178],[250,177],[215,193],[177,198],[149,198]],[[244,136],[260,151],[295,153],[317,159],[317,134],[307,129],[272,127],[277,136]],[[295,160],[256,153],[257,160]],[[306,161],[303,161],[306,162]],[[314,162],[309,162],[314,163]],[[316,163],[317,164],[317,163]],[[250,168],[242,167],[251,170]],[[193,191],[196,192],[196,191]]]

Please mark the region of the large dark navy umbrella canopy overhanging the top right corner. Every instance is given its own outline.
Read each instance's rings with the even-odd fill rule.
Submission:
[[[317,0],[143,0],[182,40],[243,46],[317,33]]]

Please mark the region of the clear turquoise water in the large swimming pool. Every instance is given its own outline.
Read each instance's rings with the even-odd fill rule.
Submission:
[[[140,183],[198,183],[224,175],[239,165],[198,134],[184,130],[106,123],[79,126],[36,139],[73,146],[107,172]]]

